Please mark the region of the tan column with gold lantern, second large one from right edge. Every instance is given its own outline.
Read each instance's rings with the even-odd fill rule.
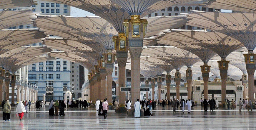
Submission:
[[[226,58],[221,58],[221,61],[218,61],[220,77],[221,77],[221,101],[225,102],[227,96],[226,82],[227,82],[227,69],[229,61]]]

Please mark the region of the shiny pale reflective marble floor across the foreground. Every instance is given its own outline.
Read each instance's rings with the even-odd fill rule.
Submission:
[[[0,108],[2,111],[2,108]],[[22,121],[11,110],[10,121],[0,121],[3,130],[82,130],[82,129],[177,129],[177,130],[255,130],[256,110],[218,109],[204,112],[201,106],[192,108],[190,114],[181,110],[172,113],[172,108],[157,106],[153,116],[134,118],[127,113],[108,112],[107,119],[96,114],[95,108],[67,108],[65,116],[49,117],[48,106],[36,110],[34,105],[24,114]],[[1,113],[1,117],[2,117]]]

